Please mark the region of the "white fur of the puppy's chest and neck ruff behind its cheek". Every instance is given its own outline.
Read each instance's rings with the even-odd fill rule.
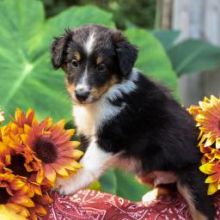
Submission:
[[[97,130],[103,123],[119,114],[126,103],[114,106],[108,102],[108,98],[115,99],[122,97],[122,93],[129,94],[134,91],[136,89],[134,80],[137,79],[137,76],[137,70],[133,69],[129,79],[114,85],[99,101],[92,104],[75,105],[73,116],[78,133],[87,137],[96,136]]]

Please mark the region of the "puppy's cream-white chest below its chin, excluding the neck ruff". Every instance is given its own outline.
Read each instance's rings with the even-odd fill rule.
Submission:
[[[120,111],[121,107],[106,102],[74,106],[73,115],[78,133],[87,137],[96,136],[98,129]]]

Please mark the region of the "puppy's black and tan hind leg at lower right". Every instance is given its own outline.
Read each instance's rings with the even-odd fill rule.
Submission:
[[[204,176],[198,168],[180,176],[177,188],[186,200],[193,220],[214,220],[215,208],[212,198],[207,195]]]

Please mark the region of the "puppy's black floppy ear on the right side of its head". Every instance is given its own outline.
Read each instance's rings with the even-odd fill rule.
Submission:
[[[113,42],[120,70],[124,76],[127,76],[135,64],[138,50],[119,31],[113,33]]]

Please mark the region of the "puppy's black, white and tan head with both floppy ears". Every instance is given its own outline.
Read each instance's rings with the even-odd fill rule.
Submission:
[[[88,25],[66,33],[52,44],[52,63],[65,71],[67,90],[81,104],[100,99],[128,77],[137,49],[119,31]]]

